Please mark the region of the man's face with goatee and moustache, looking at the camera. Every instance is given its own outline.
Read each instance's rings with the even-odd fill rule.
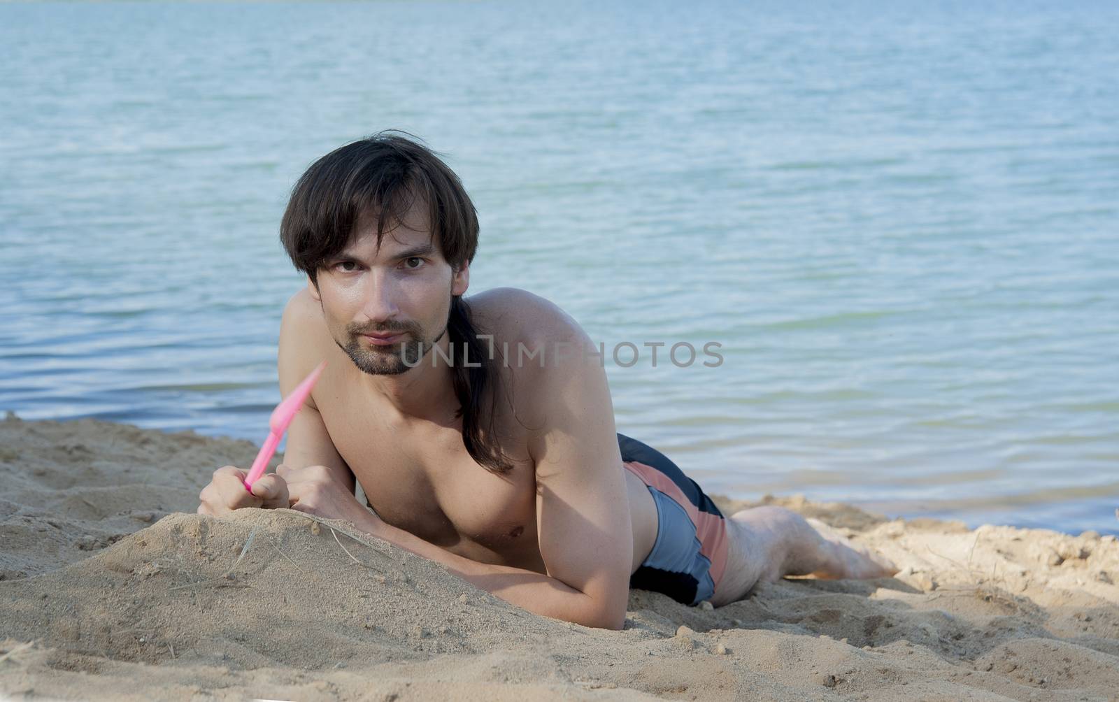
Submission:
[[[392,227],[392,224],[388,225]],[[469,283],[443,258],[417,201],[377,248],[376,214],[358,220],[349,246],[318,272],[322,305],[335,343],[363,372],[404,373],[417,366],[446,331],[451,296]]]

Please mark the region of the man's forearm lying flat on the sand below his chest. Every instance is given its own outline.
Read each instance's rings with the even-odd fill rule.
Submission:
[[[620,629],[624,623],[624,613],[619,617],[618,613],[604,611],[590,596],[544,573],[470,560],[386,524],[373,514],[356,525],[373,537],[436,561],[474,587],[532,613],[602,628]]]

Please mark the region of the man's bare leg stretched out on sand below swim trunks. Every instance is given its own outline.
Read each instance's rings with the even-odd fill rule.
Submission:
[[[784,507],[735,512],[726,520],[726,570],[713,597],[715,605],[742,599],[759,582],[784,576],[885,578],[897,572],[887,559]]]

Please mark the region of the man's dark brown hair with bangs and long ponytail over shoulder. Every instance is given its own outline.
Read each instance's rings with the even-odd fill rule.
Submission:
[[[376,215],[379,245],[385,231],[404,220],[417,198],[427,205],[432,234],[451,267],[458,271],[473,260],[478,249],[473,202],[459,177],[433,151],[407,136],[412,134],[378,132],[340,146],[312,163],[295,182],[280,224],[280,241],[316,288],[319,268],[349,245],[363,215]],[[462,443],[479,464],[505,473],[513,465],[495,431],[498,371],[488,357],[489,348],[478,340],[470,306],[461,295],[451,297],[446,333],[452,348],[468,349],[471,363],[452,366]]]

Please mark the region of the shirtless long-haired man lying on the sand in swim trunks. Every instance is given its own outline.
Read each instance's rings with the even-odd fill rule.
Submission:
[[[788,510],[726,519],[617,434],[599,348],[554,304],[514,288],[468,304],[477,216],[424,146],[380,133],[327,154],[281,240],[308,276],[281,321],[281,392],[327,368],[284,465],[252,493],[245,471],[217,469],[199,513],[344,519],[514,605],[612,629],[631,586],[724,605],[790,573],[895,571]]]

